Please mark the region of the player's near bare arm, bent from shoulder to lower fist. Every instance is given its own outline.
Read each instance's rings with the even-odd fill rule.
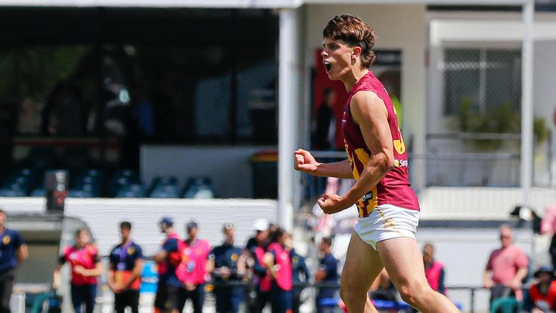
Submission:
[[[318,205],[328,214],[354,205],[394,166],[393,140],[384,102],[371,91],[360,91],[351,98],[350,110],[372,155],[359,180],[344,196],[325,194],[318,199]]]

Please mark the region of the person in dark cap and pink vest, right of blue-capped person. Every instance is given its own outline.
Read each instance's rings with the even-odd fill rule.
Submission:
[[[183,242],[181,263],[176,270],[176,275],[182,284],[179,312],[183,311],[187,299],[191,299],[195,313],[202,312],[205,303],[205,282],[209,268],[207,260],[211,246],[207,240],[197,237],[198,224],[189,221],[185,224],[187,240]]]

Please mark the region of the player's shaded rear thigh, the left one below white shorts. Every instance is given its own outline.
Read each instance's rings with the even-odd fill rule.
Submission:
[[[381,270],[382,261],[378,251],[357,233],[351,235],[340,279],[341,288],[345,291],[367,292]]]

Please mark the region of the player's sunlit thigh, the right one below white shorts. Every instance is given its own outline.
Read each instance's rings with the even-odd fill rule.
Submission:
[[[423,257],[413,238],[398,237],[377,243],[386,272],[398,290],[428,286]]]

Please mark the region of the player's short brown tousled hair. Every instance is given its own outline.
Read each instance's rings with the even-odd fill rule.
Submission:
[[[370,67],[375,60],[373,47],[376,36],[369,24],[359,16],[342,14],[334,16],[323,30],[323,38],[343,40],[350,47],[361,48],[361,61],[364,67]]]

